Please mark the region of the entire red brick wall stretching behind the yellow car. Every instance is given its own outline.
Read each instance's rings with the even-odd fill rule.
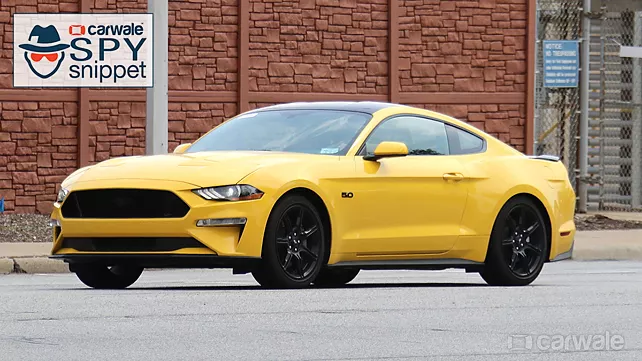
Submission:
[[[12,89],[11,15],[78,12],[81,1],[0,0],[0,197],[9,212],[48,212],[79,152],[90,164],[145,152],[144,91],[46,89],[38,94],[60,101],[40,101],[33,90]],[[235,99],[254,109],[315,94],[385,100],[391,91],[524,150],[527,0],[398,0],[395,59],[390,0],[247,0],[247,49],[239,48],[241,1],[169,2],[170,151],[237,114]],[[147,0],[86,4],[93,12],[147,11]],[[390,89],[391,62],[397,89]],[[435,92],[449,104],[432,99]],[[513,101],[495,103],[496,92]],[[464,93],[486,100],[449,99],[476,98]],[[523,103],[514,100],[522,95]],[[88,149],[78,149],[79,124],[88,129]]]

